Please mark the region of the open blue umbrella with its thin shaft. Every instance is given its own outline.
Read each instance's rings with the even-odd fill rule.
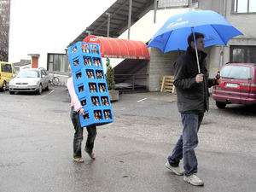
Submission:
[[[242,35],[222,15],[214,11],[189,11],[170,17],[165,25],[154,34],[154,37],[148,43],[148,47],[160,49],[164,53],[172,50],[185,50],[188,48],[187,38],[191,32],[194,33],[194,39],[195,32],[201,32],[205,35],[205,47],[225,45],[230,38]],[[195,50],[200,73],[196,47]]]

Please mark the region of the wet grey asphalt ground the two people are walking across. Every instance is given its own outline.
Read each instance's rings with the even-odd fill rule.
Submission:
[[[255,106],[219,110],[211,101],[196,148],[205,186],[194,187],[164,166],[182,130],[175,100],[120,96],[114,123],[97,129],[96,160],[84,153],[76,164],[65,88],[42,96],[0,93],[0,191],[255,191]]]

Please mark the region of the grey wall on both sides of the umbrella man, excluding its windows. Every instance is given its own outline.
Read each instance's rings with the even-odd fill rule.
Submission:
[[[256,15],[234,14],[232,10],[233,0],[199,0],[195,9],[210,9],[218,12],[244,35],[233,38],[226,46],[212,46],[207,48],[207,67],[210,78],[215,77],[218,70],[230,61],[230,45],[256,45]],[[150,49],[151,61],[148,65],[148,90],[160,90],[160,78],[163,75],[172,75],[172,64],[177,55],[161,54],[156,49]]]

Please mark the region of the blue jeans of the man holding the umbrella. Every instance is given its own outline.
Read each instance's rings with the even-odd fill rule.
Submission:
[[[171,166],[178,166],[183,159],[184,175],[189,176],[197,172],[195,148],[198,145],[197,132],[201,125],[204,113],[181,113],[183,134],[179,137],[176,146],[169,155]]]

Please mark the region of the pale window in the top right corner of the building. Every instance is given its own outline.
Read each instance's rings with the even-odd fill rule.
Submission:
[[[256,1],[233,0],[233,12],[237,14],[256,13]]]

